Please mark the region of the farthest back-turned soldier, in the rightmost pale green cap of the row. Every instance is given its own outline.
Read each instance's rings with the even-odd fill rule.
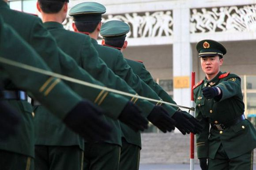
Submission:
[[[121,52],[127,47],[128,42],[125,41],[126,34],[130,31],[130,26],[122,21],[109,21],[102,25],[100,34],[103,37],[102,44],[111,48],[116,48]],[[151,89],[154,90],[164,101],[176,104],[173,99],[159,86],[146,70],[142,62],[125,59],[133,72],[141,78]],[[178,108],[176,108],[178,109]],[[122,127],[122,126],[121,126]],[[127,132],[124,132],[127,133]],[[185,133],[184,133],[185,134]],[[126,135],[124,135],[126,136]],[[120,155],[120,170],[138,170],[139,155],[141,145],[137,145],[135,141],[127,142],[122,140],[122,148]],[[136,162],[136,163],[135,163]]]

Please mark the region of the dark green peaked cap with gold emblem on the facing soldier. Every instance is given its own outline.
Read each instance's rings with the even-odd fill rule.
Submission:
[[[214,40],[202,40],[196,44],[196,50],[199,53],[198,57],[215,56],[223,57],[226,54],[226,48]]]

